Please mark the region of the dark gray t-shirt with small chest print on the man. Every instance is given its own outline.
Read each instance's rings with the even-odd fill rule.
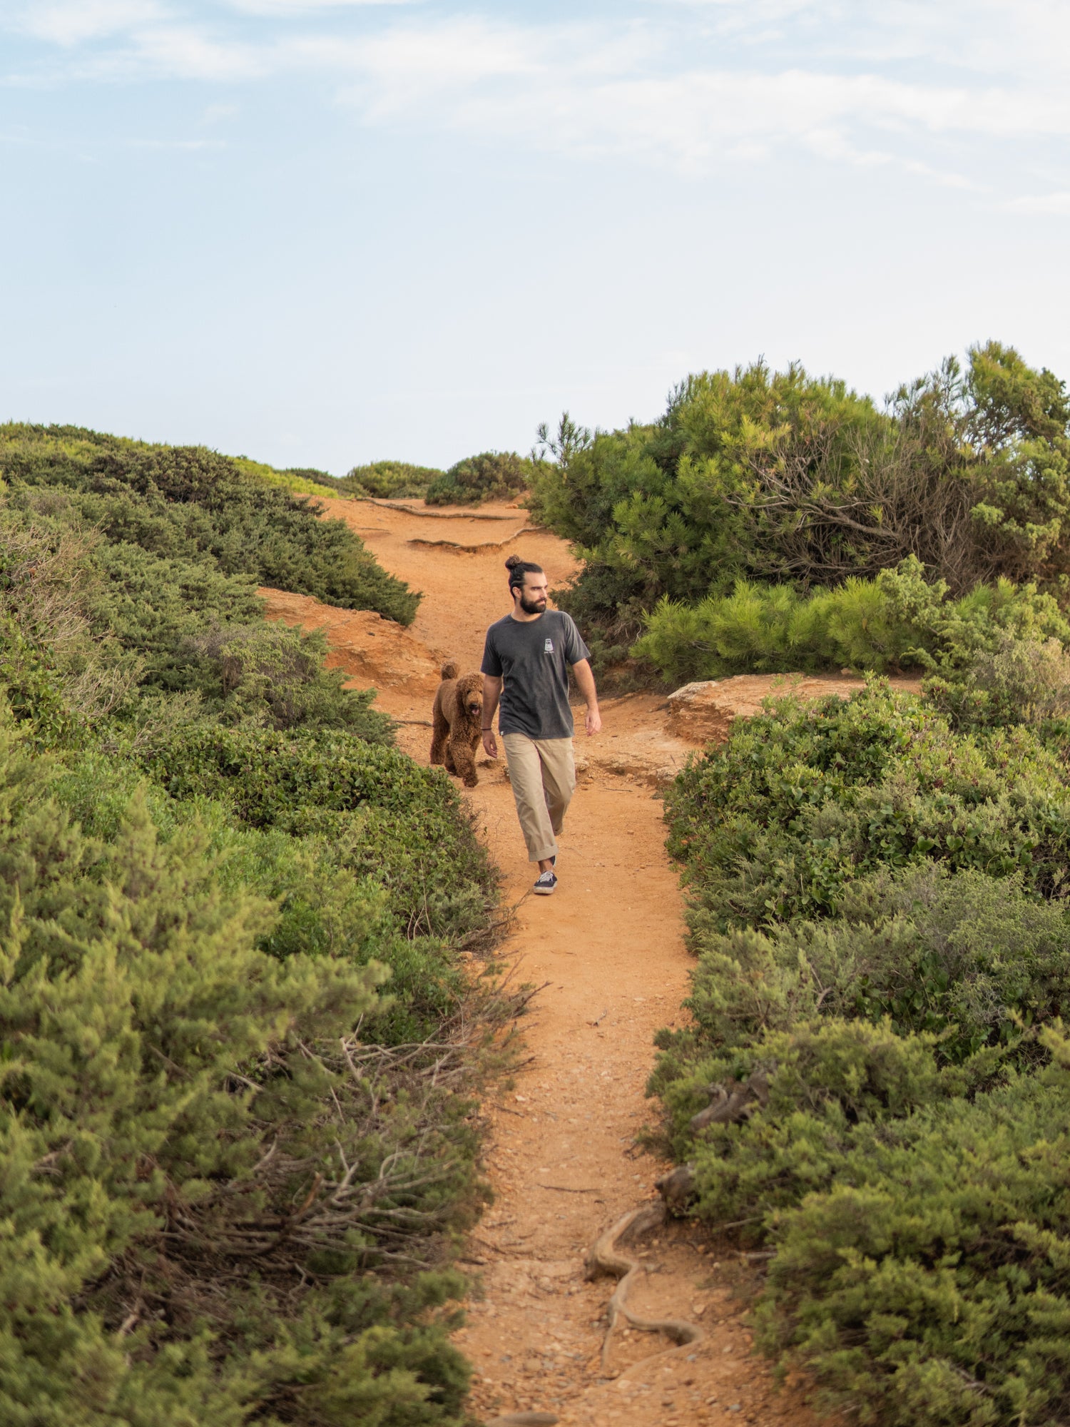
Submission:
[[[591,651],[572,615],[546,609],[538,619],[506,615],[486,631],[482,672],[502,679],[501,733],[572,738],[568,671]]]

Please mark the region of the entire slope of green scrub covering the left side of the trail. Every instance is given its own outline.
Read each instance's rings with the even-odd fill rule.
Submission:
[[[459,1427],[495,882],[255,586],[415,598],[211,452],[0,458],[0,1418]]]

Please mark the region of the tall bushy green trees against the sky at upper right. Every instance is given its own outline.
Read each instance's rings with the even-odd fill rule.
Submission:
[[[642,652],[695,662],[691,642],[739,581],[753,599],[755,584],[805,596],[853,579],[857,602],[912,557],[953,599],[999,579],[1061,599],[1070,578],[1070,398],[997,342],[885,410],[758,362],[689,377],[649,425],[592,435],[565,418],[544,441],[555,459],[532,511],[585,558],[558,599],[602,664],[628,655],[659,601]]]

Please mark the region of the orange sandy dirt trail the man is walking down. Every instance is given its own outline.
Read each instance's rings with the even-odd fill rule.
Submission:
[[[551,586],[574,569],[562,541],[519,534],[526,512],[515,507],[482,507],[477,521],[464,512],[441,519],[384,504],[324,504],[387,569],[424,591],[402,641],[411,679],[381,682],[379,706],[402,719],[431,718],[431,661],[449,655],[464,671],[478,668],[488,624],[509,608],[508,554],[539,561]],[[418,509],[418,502],[405,504]],[[271,612],[291,622],[301,616],[300,606]],[[360,651],[347,662],[337,612],[310,622],[327,626],[338,662],[357,682],[374,682]],[[666,1167],[636,1152],[635,1134],[653,1113],[643,1097],[653,1033],[678,1022],[688,987],[676,872],[663,850],[656,783],[691,745],[665,731],[661,699],[608,701],[602,712],[602,735],[576,738],[582,771],[561,839],[558,892],[526,896],[504,949],[515,958],[519,980],[546,985],[524,1025],[531,1059],[515,1090],[488,1107],[495,1202],[467,1253],[482,1297],[469,1303],[469,1324],[457,1337],[475,1364],[471,1406],[486,1418],[552,1411],[579,1427],[739,1420],[809,1427],[816,1418],[800,1390],[775,1391],[769,1368],[749,1354],[740,1316],[755,1290],[753,1267],[729,1249],[708,1246],[686,1223],[655,1230],[626,1250],[642,1266],[628,1304],[646,1319],[688,1319],[702,1329],[702,1340],[669,1353],[668,1339],[618,1327],[603,1376],[613,1281],[588,1281],[585,1257],[615,1220],[655,1197],[653,1182]],[[427,762],[428,728],[407,723],[399,742]],[[532,869],[501,763],[481,766],[479,779],[464,796],[479,813],[506,899],[518,902]]]

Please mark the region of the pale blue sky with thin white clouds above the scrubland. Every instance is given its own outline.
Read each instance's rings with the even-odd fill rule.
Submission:
[[[1070,378],[1066,0],[0,0],[0,420],[335,475]]]

